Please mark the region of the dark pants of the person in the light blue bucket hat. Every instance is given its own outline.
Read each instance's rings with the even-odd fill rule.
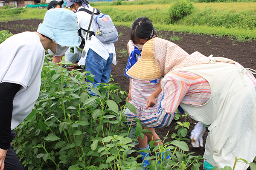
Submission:
[[[16,133],[14,130],[12,130],[12,136],[13,139],[15,139]],[[24,170],[15,151],[13,150],[13,147],[10,147],[7,151],[3,170]]]

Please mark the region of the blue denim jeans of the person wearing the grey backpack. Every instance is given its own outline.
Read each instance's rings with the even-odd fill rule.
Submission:
[[[108,59],[105,60],[92,49],[89,49],[85,60],[85,71],[90,71],[90,73],[93,74],[95,77],[93,77],[94,82],[91,82],[88,79],[86,79],[85,81],[93,83],[94,87],[98,86],[96,85],[97,83],[108,83],[110,78],[112,60],[112,53],[109,54]],[[90,74],[87,73],[86,75]]]

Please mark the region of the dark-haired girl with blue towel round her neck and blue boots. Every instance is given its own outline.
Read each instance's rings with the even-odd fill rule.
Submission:
[[[154,29],[154,26],[152,25],[151,21],[146,17],[140,17],[133,22],[131,26],[131,40],[128,42],[127,45],[130,57],[125,69],[125,76],[129,77],[126,74],[126,72],[129,70],[129,68],[131,68],[132,65],[134,65],[140,59],[143,44],[148,40],[152,39],[153,37],[156,37],[155,32],[156,30]],[[155,79],[154,81],[141,81],[139,79],[132,79],[130,77],[130,88],[127,99],[128,102],[135,106],[137,115],[135,115],[132,112],[128,112],[128,114],[126,114],[128,125],[136,125],[134,118],[137,118],[141,122],[143,122],[145,116],[157,114],[160,101],[163,96],[163,93],[161,92],[162,89],[160,88],[160,86],[158,87],[160,80],[161,79]],[[155,96],[155,105],[152,107],[148,107],[148,97],[151,96],[151,94],[156,89],[157,91],[160,91],[160,94]],[[154,121],[148,123],[154,123]],[[140,150],[149,150],[150,146],[148,145],[148,139],[156,141],[157,139],[160,140],[160,138],[159,136],[157,136],[157,133],[155,132],[154,128],[143,127],[143,129],[150,130],[153,136],[149,133],[144,133],[143,139],[140,136],[138,137]],[[158,141],[154,143],[155,146],[157,146],[158,144],[162,144],[162,142]],[[143,167],[146,167],[149,164],[149,162],[148,160],[145,159],[145,157],[149,156],[149,153],[141,152],[140,154],[143,155]]]

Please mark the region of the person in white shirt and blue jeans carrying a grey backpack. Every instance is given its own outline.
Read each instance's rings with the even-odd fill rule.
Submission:
[[[79,31],[85,41],[85,45],[80,46],[80,48],[84,49],[84,56],[79,60],[78,65],[85,66],[85,71],[89,71],[95,76],[93,77],[94,82],[91,82],[89,79],[86,79],[86,82],[91,82],[94,87],[98,86],[98,83],[108,83],[111,73],[111,63],[116,65],[116,51],[113,42],[105,43],[95,36],[96,32],[90,26],[91,14],[94,8],[89,5],[87,0],[68,0],[66,7],[76,9],[79,29],[81,28]],[[85,9],[90,11],[91,14],[84,11]],[[95,10],[95,15],[97,11]],[[89,39],[86,39],[87,33],[89,33]],[[86,75],[90,74],[86,73]]]

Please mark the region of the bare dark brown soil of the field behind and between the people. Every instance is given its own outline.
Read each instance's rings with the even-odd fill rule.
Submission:
[[[13,34],[17,34],[23,31],[36,31],[38,24],[42,23],[42,20],[19,20],[11,21],[8,23],[0,23],[0,30],[9,30]],[[119,83],[119,87],[128,92],[129,91],[129,80],[128,77],[124,76],[124,70],[128,61],[128,54],[124,56],[120,51],[127,51],[127,42],[130,40],[130,28],[125,26],[116,26],[119,32],[119,40],[115,42],[116,47],[116,59],[117,64],[112,65],[111,74],[113,75],[114,81],[111,83]],[[122,34],[121,34],[122,33]],[[179,45],[189,54],[192,54],[195,51],[209,56],[213,55],[214,57],[226,57],[233,59],[239,62],[244,68],[256,69],[256,42],[237,42],[235,39],[232,40],[228,37],[216,37],[214,35],[202,35],[202,34],[187,34],[187,33],[178,33],[172,31],[157,31],[158,37],[170,40],[170,37],[173,35],[179,37],[181,41],[172,41],[175,44]],[[119,51],[119,52],[118,52]],[[122,56],[122,57],[119,57]],[[183,121],[182,117],[179,121]],[[186,119],[187,122],[190,122],[190,128],[186,138],[189,139],[190,132],[195,125],[195,121],[191,118]],[[177,125],[177,121],[173,121],[169,127],[156,129],[157,134],[161,139],[166,136],[169,131],[168,139],[166,141],[171,141],[171,134],[177,133],[177,130],[174,130],[174,127]],[[207,137],[207,132],[204,134],[204,141]],[[189,141],[189,152],[195,152],[193,155],[204,154],[204,147],[193,148]],[[138,145],[135,149],[138,150]],[[200,169],[203,169],[202,166]],[[250,168],[248,168],[250,169]]]

